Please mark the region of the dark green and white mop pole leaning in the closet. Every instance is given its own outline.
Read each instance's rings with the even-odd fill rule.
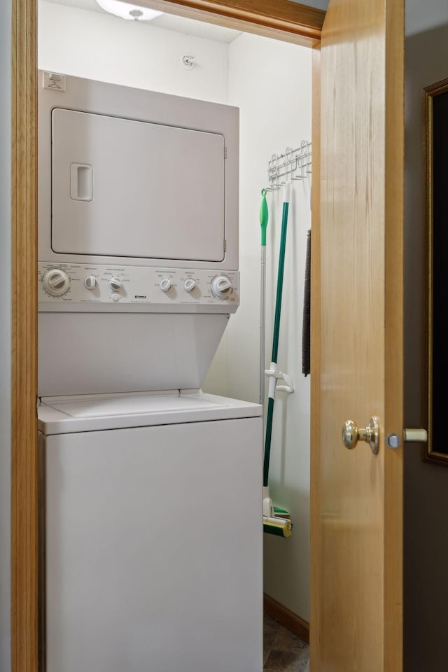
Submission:
[[[271,362],[273,364],[276,364],[277,355],[279,352],[281,297],[283,295],[283,272],[285,268],[286,232],[288,230],[289,191],[290,191],[290,183],[286,183],[285,197],[283,201],[283,214],[281,217],[279,270],[277,274],[277,290],[275,298],[274,337],[272,339]],[[275,394],[275,386],[273,383],[271,383],[269,385],[269,400],[267,402],[265,459],[263,463],[263,486],[267,486],[267,482],[269,479],[269,459],[271,456],[271,440],[272,440],[272,418],[274,416],[274,394]]]

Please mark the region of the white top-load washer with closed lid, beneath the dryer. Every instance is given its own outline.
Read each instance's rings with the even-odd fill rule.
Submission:
[[[260,406],[42,401],[42,669],[261,672]]]

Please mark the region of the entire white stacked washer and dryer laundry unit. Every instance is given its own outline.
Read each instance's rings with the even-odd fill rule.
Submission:
[[[41,669],[260,672],[261,407],[201,391],[238,110],[41,78]]]

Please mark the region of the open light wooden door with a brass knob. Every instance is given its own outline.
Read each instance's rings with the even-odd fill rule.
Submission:
[[[321,34],[311,672],[402,670],[403,4],[330,0]],[[378,454],[346,449],[374,415]]]

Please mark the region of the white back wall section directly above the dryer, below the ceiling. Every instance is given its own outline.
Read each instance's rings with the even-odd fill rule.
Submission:
[[[38,36],[40,69],[227,102],[227,44],[43,0]],[[191,70],[180,62],[186,54]]]

